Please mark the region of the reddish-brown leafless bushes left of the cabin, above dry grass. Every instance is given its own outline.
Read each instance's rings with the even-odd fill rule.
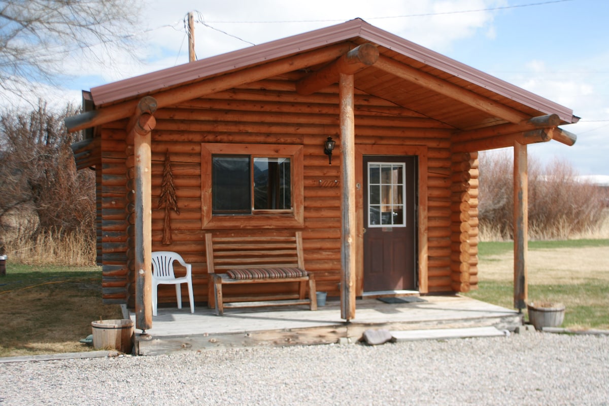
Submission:
[[[76,170],[70,145],[82,134],[68,134],[63,123],[75,113],[71,106],[49,112],[41,101],[29,114],[0,114],[0,226],[4,216],[27,210],[39,225],[31,232],[80,230],[94,238],[94,172]]]

